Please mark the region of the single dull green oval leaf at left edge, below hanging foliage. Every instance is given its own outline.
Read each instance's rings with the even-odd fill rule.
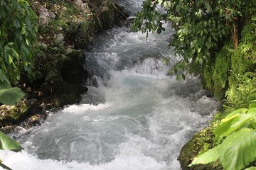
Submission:
[[[14,105],[18,101],[21,100],[21,98],[25,94],[21,89],[18,89],[17,87],[10,88],[10,89],[3,89],[0,90],[0,103],[4,103],[6,105]]]

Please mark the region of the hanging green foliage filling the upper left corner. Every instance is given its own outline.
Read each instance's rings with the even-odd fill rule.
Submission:
[[[21,66],[31,70],[36,19],[27,1],[0,1],[0,89],[18,82]]]

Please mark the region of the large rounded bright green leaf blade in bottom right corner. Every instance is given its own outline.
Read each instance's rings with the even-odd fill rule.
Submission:
[[[256,131],[242,128],[228,135],[218,147],[224,169],[244,169],[256,158]]]

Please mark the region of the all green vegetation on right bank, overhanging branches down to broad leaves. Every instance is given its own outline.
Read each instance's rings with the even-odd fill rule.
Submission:
[[[168,22],[176,30],[170,45],[183,59],[170,73],[178,79],[199,75],[203,87],[224,101],[210,126],[213,135],[206,134],[215,139],[201,153],[213,149],[193,164],[219,159],[224,169],[244,169],[256,158],[255,6],[250,0],[146,0],[137,13],[135,30],[161,33]]]

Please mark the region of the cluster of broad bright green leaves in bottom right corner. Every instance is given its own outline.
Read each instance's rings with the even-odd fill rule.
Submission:
[[[223,142],[199,154],[190,166],[208,164],[220,159],[224,169],[244,169],[256,158],[256,108],[255,104],[228,114],[213,131]]]

